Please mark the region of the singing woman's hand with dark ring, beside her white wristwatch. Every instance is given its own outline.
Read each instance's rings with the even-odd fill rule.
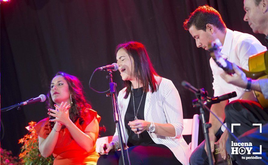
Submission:
[[[141,134],[143,131],[148,130],[151,125],[151,122],[147,122],[145,120],[134,120],[128,123],[129,127],[135,134]]]

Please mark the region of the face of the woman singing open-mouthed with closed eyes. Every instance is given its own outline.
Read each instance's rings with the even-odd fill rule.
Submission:
[[[134,80],[134,60],[131,55],[128,55],[126,49],[121,48],[116,54],[116,61],[118,64],[118,70],[124,81]]]

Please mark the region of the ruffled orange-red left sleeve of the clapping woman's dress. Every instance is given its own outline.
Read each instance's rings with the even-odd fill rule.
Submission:
[[[38,136],[42,137],[43,139],[47,138],[51,131],[48,120],[49,118],[45,118],[34,126],[34,129],[36,130],[36,133],[38,134]]]

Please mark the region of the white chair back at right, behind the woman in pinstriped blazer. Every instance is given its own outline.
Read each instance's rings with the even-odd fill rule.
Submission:
[[[189,147],[193,152],[198,146],[198,129],[199,129],[199,115],[195,114],[193,119],[183,119],[182,135],[192,135]]]

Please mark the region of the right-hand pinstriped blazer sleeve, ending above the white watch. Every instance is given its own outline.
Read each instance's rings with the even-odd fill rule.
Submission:
[[[164,87],[164,113],[167,118],[167,123],[174,126],[177,138],[182,134],[183,130],[183,113],[182,103],[179,92],[171,80],[167,80]]]

